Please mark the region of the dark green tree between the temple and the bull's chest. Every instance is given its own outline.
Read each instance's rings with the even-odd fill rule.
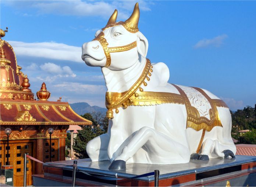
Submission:
[[[81,116],[92,121],[92,125],[83,126],[82,130],[78,131],[73,150],[78,158],[88,158],[86,153],[87,143],[93,138],[107,133],[109,120],[100,112],[86,113]]]

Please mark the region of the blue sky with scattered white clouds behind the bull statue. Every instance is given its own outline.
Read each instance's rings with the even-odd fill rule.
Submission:
[[[209,90],[232,111],[256,104],[256,1],[138,1],[147,58],[164,62],[169,83]],[[3,38],[28,75],[33,93],[43,82],[50,100],[105,106],[99,67],[81,59],[115,9],[125,21],[136,1],[0,1]]]

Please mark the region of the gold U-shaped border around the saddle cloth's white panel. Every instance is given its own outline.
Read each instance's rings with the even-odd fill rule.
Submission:
[[[178,87],[175,84],[173,84],[173,86],[179,91],[179,93],[183,97],[183,100],[185,101],[185,106],[186,106],[186,110],[187,110],[187,114],[188,114],[186,128],[190,127],[192,129],[195,129],[196,131],[199,131],[201,129],[211,131],[211,129],[215,126],[222,127],[220,118],[218,116],[218,110],[217,110],[216,105],[213,103],[211,98],[202,89],[192,87],[193,89],[196,89],[197,91],[199,91],[209,101],[209,103],[211,105],[211,109],[209,111],[210,120],[207,119],[206,117],[202,117],[199,115],[198,110],[195,107],[191,106],[191,103],[188,100],[188,97],[186,96],[185,92],[180,87]]]

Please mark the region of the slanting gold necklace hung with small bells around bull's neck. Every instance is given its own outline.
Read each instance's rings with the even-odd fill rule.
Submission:
[[[151,65],[151,62],[149,59],[146,61],[145,68],[143,69],[143,72],[139,79],[132,85],[132,87],[123,93],[113,93],[113,92],[106,92],[106,117],[111,119],[114,118],[113,115],[113,109],[115,109],[115,112],[118,113],[118,108],[123,107],[124,109],[127,108],[127,103],[132,103],[132,96],[134,95],[135,98],[139,97],[139,94],[136,93],[136,91],[139,89],[139,91],[143,91],[141,88],[141,85],[147,86],[147,83],[145,82],[145,79],[147,81],[150,80],[149,76],[151,76],[151,72],[153,72],[153,66]]]

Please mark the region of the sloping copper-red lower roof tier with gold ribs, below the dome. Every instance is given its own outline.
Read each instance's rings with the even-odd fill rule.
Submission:
[[[65,102],[0,100],[0,125],[91,125]]]

